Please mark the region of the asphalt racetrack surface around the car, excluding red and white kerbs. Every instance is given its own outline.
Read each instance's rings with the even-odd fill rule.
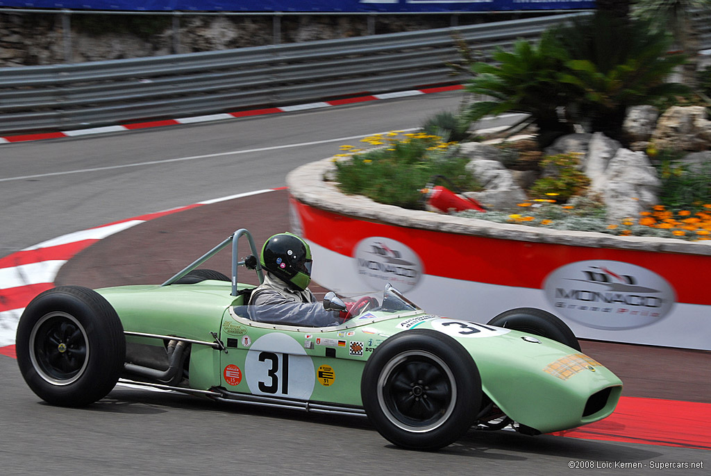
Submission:
[[[419,125],[423,117],[434,112],[451,109],[458,100],[454,94],[432,94],[284,117],[3,146],[0,180],[36,176],[0,183],[0,202],[6,204],[0,211],[4,224],[0,256],[114,220],[282,186],[292,168],[329,156],[338,145],[354,141],[253,149],[406,129]],[[241,152],[245,150],[252,152]],[[215,153],[225,154],[190,158]],[[86,171],[173,158],[190,159]],[[46,175],[71,171],[80,172]],[[181,212],[114,235],[70,261],[60,271],[57,283],[96,287],[128,281],[158,282],[237,227],[246,225],[257,230],[257,241],[287,229],[286,210],[279,205],[284,193],[280,196],[277,192],[269,200],[222,202],[201,207],[215,210],[214,214],[198,216],[201,209]],[[198,242],[206,243],[204,247],[196,244],[196,236]],[[152,261],[146,259],[150,256]],[[626,394],[636,391],[638,396],[663,398],[683,394],[688,400],[707,401],[711,393],[709,379],[704,377],[709,369],[708,355],[695,361],[697,357],[685,351],[662,350],[666,353],[656,361],[662,362],[657,365],[658,372],[650,375],[639,366],[660,357],[658,350],[636,346],[620,350],[599,344],[593,350],[586,347],[587,343],[583,345],[585,352],[621,374],[628,385]],[[648,354],[639,353],[640,349]],[[625,363],[631,364],[626,366],[628,371],[624,371]],[[557,436],[530,438],[508,432],[471,432],[439,453],[416,453],[393,448],[366,421],[245,409],[122,387],[88,409],[57,409],[41,403],[29,391],[13,359],[0,356],[0,375],[4,377],[0,386],[0,435],[4,440],[0,445],[0,474],[7,475],[68,475],[79,471],[102,475],[228,471],[691,475],[705,474],[711,465],[705,450]],[[646,466],[570,470],[569,462],[574,460],[589,460],[597,466],[615,461]],[[654,470],[649,466],[651,460],[704,461],[705,469]]]

